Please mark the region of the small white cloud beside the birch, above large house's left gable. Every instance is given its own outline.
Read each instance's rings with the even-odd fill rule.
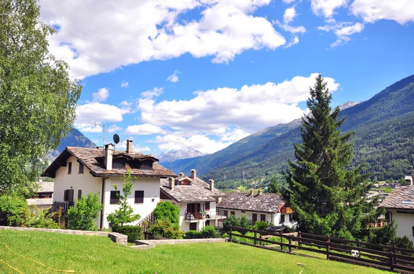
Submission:
[[[88,103],[79,105],[76,109],[77,118],[75,126],[81,131],[99,132],[100,127],[96,123],[120,122],[122,120],[121,109],[115,105],[101,103]]]

